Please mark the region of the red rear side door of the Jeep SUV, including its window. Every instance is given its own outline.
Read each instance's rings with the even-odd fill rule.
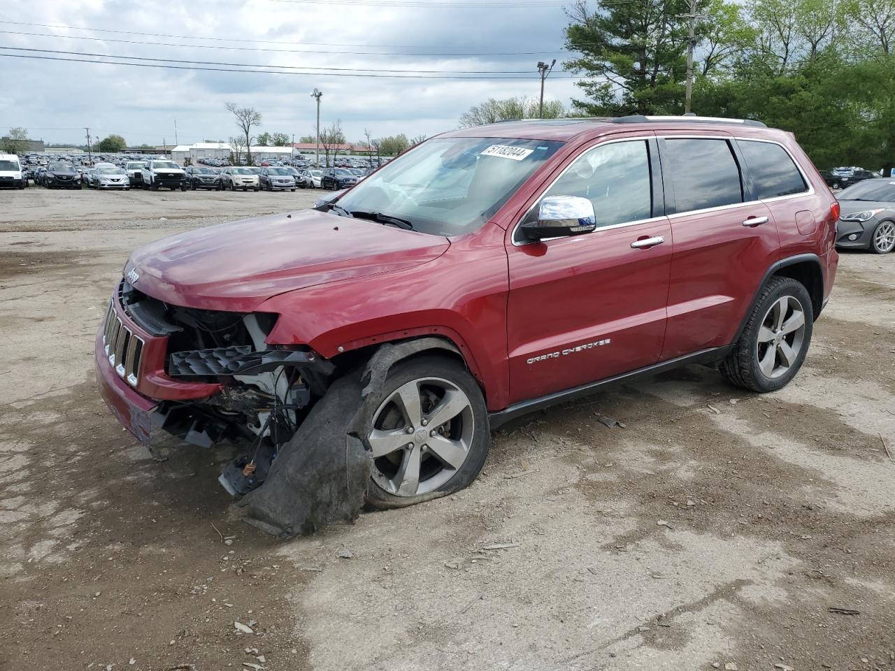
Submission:
[[[659,134],[674,238],[664,361],[729,344],[780,238],[728,133]]]

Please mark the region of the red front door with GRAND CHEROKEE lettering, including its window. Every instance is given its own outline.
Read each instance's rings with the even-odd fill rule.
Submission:
[[[590,234],[507,245],[510,403],[659,361],[665,337],[671,228],[656,140],[585,148],[543,193],[592,201]],[[538,203],[523,218],[537,218]]]

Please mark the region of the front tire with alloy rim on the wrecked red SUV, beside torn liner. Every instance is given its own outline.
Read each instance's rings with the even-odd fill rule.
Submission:
[[[402,388],[411,390],[412,395],[416,390],[416,398],[422,398],[422,415],[411,411],[417,420],[413,422],[413,434],[405,434],[408,414],[393,400],[400,397],[398,390]],[[439,392],[443,394],[440,399]],[[445,408],[444,416],[448,419],[438,428],[424,429],[422,422],[427,413],[433,417],[439,412],[448,392],[456,403],[453,409]],[[427,407],[433,400],[434,407]],[[455,413],[457,407],[461,409]],[[400,508],[456,492],[475,480],[488,458],[490,429],[482,390],[462,364],[447,357],[427,355],[396,363],[382,387],[366,397],[362,412],[369,428],[364,444],[374,454],[379,451],[379,456],[373,457],[366,498],[372,508]],[[394,430],[396,427],[399,432]],[[427,441],[435,430],[445,427],[447,433],[443,436],[453,437],[440,437],[439,449],[430,449]],[[381,437],[375,436],[376,431],[381,432]],[[396,441],[403,442],[404,436],[407,445],[413,446],[410,449],[395,445]],[[447,466],[439,451],[455,459],[455,466]],[[403,467],[413,470],[414,456],[421,460],[416,485],[413,479],[405,481],[400,474]],[[396,493],[400,488],[395,479],[404,483],[402,494]]]

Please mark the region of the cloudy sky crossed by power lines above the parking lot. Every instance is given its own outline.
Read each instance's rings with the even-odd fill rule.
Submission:
[[[362,139],[365,128],[374,137],[397,132],[433,135],[456,127],[463,112],[486,98],[537,96],[539,60],[558,59],[545,98],[568,103],[575,87],[574,80],[560,72],[568,56],[561,50],[567,24],[563,4],[560,0],[7,2],[0,14],[0,133],[23,126],[35,139],[83,143],[83,126],[90,126],[91,135],[99,138],[115,132],[134,145],[161,144],[163,139],[172,144],[176,119],[181,144],[226,139],[235,128],[224,105],[233,101],[260,111],[262,131],[294,133],[297,140],[313,132],[310,92],[316,87],[324,94],[321,125],[341,119],[348,140]],[[234,69],[233,64],[242,64],[278,72],[49,60],[103,61],[107,56],[119,61],[124,56],[186,61],[167,64],[187,68]],[[429,71],[424,73],[430,77],[483,79],[406,77],[422,71]],[[338,76],[347,73],[377,76]],[[531,79],[496,79],[501,77]]]

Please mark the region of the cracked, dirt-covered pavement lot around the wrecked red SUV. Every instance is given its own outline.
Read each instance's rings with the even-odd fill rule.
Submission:
[[[282,543],[230,519],[225,451],[135,444],[92,343],[133,247],[316,195],[0,192],[0,669],[895,668],[895,256],[843,255],[779,393],[666,374]]]

